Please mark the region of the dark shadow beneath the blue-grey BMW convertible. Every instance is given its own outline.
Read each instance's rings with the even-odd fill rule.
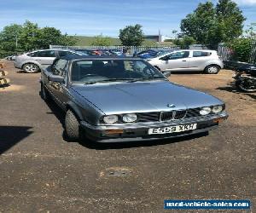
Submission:
[[[58,107],[54,101],[45,101],[51,112],[46,112],[48,114],[54,114],[56,118],[61,122],[63,127],[62,138],[67,142],[78,142],[82,147],[86,147],[89,149],[95,150],[108,150],[108,149],[124,149],[124,148],[132,148],[132,147],[154,147],[159,145],[165,145],[170,143],[176,143],[180,141],[191,141],[196,138],[200,138],[203,136],[207,136],[208,132],[195,134],[195,135],[186,135],[172,139],[163,139],[163,140],[154,140],[154,141],[129,141],[129,142],[112,142],[112,143],[101,143],[96,141],[91,141],[84,137],[81,141],[70,141],[67,139],[67,135],[65,132],[65,113]]]

